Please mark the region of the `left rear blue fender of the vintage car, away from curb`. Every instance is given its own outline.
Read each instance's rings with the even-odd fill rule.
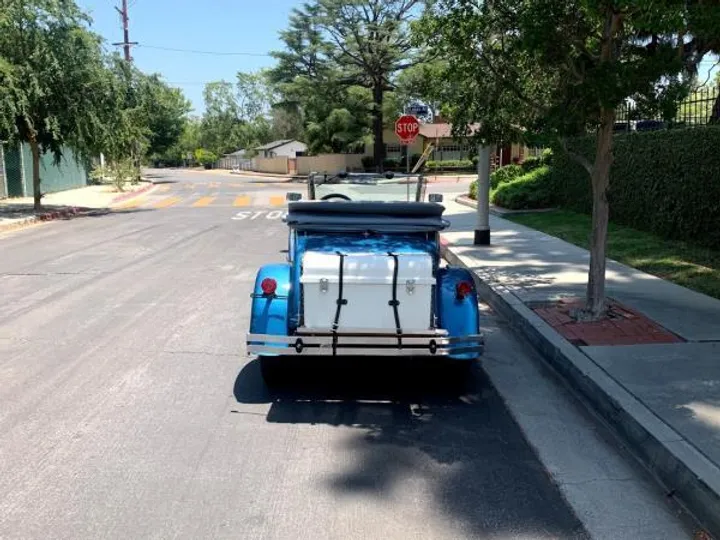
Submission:
[[[261,283],[266,278],[272,278],[277,282],[277,291],[274,296],[263,295]],[[289,264],[268,264],[260,267],[255,278],[252,295],[251,334],[270,334],[274,336],[287,336],[289,334],[292,289]],[[282,346],[272,343],[266,344]]]

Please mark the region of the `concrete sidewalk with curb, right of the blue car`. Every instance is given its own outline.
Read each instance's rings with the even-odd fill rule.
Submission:
[[[720,301],[609,261],[608,296],[682,340],[572,345],[532,308],[584,296],[589,253],[496,216],[493,245],[475,247],[475,211],[446,206],[446,258],[476,273],[484,299],[720,537]]]

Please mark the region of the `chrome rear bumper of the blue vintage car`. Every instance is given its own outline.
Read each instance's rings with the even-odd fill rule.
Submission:
[[[282,356],[451,356],[482,354],[482,334],[448,337],[444,330],[396,335],[386,331],[298,329],[292,336],[247,334],[249,354]]]

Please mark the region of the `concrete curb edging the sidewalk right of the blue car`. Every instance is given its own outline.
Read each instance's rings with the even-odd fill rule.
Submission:
[[[447,241],[441,253],[452,265],[476,276],[480,297],[513,331],[527,339],[653,474],[668,496],[678,500],[714,537],[720,537],[720,468],[658,418],[582,351],[503,286],[483,281]]]

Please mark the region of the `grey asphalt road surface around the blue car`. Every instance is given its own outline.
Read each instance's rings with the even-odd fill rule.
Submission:
[[[0,538],[687,534],[487,309],[463,384],[311,362],[268,392],[249,294],[284,258],[271,198],[302,186],[157,174],[122,211],[0,235]]]

